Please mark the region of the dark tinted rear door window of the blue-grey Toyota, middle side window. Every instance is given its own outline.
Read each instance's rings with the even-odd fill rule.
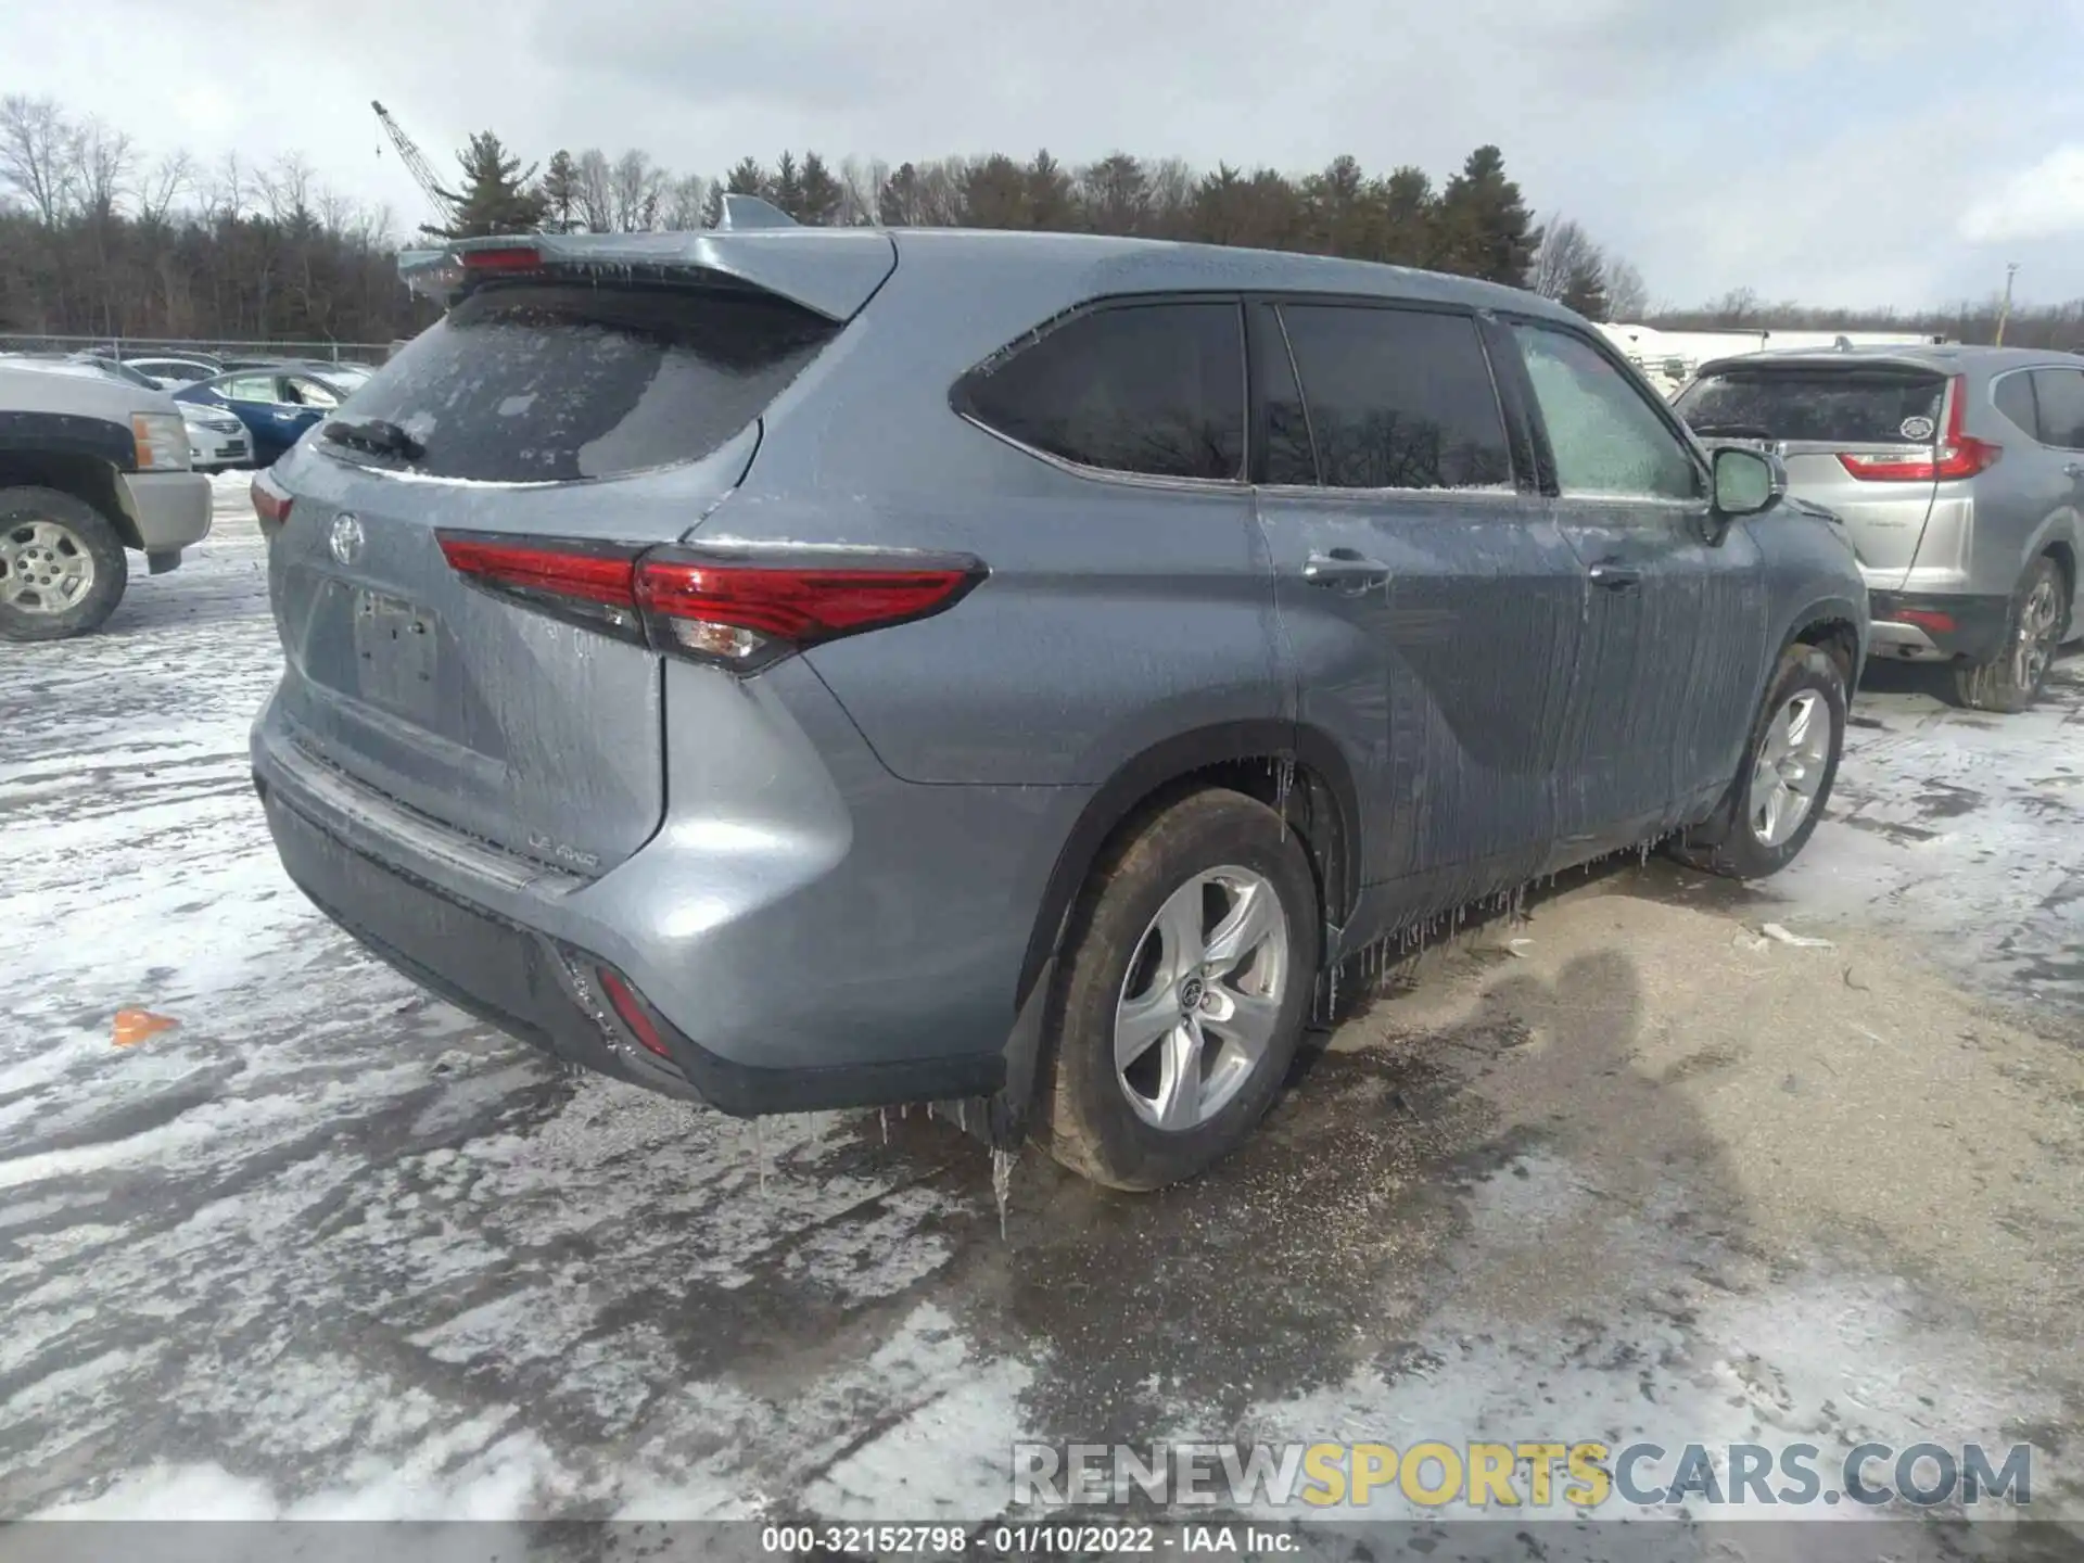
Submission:
[[[1284,304],[1282,321],[1302,375],[1325,488],[1513,481],[1498,388],[1473,319]]]

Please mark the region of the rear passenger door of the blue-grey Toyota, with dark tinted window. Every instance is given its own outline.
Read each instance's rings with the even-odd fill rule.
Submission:
[[[1584,571],[1523,440],[1515,458],[1486,331],[1378,302],[1252,313],[1255,496],[1300,719],[1353,765],[1363,882],[1396,882],[1378,904],[1398,921],[1530,877],[1555,836]]]

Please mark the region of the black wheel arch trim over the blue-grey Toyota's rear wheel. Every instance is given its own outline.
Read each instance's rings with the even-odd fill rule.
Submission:
[[[1086,800],[1042,892],[1015,1007],[1027,1002],[1057,952],[1094,863],[1150,813],[1207,786],[1227,786],[1277,809],[1311,859],[1323,919],[1344,923],[1350,917],[1361,888],[1361,809],[1338,744],[1317,727],[1290,721],[1196,727],[1125,761]]]

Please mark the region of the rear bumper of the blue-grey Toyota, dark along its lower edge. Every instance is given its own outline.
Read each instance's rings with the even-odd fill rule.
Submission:
[[[948,796],[971,790],[882,773],[882,794],[852,794],[852,842],[834,854],[790,840],[802,819],[769,819],[754,838],[717,817],[669,817],[638,854],[579,877],[348,779],[277,706],[254,727],[252,763],[286,871],[375,954],[490,1025],[738,1117],[1004,1084],[1029,932],[1004,911],[1040,890],[1025,896],[1007,882],[1025,873],[977,848],[965,825],[982,821]],[[988,802],[994,790],[975,792]],[[763,859],[769,844],[777,854]],[[942,850],[984,867],[936,875]],[[894,863],[911,865],[919,904]],[[602,969],[636,994],[667,1057],[617,1015]]]

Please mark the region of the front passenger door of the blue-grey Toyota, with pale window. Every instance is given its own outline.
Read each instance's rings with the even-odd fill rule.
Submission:
[[[1648,390],[1573,329],[1513,336],[1553,515],[1590,581],[1557,777],[1561,846],[1584,859],[1684,823],[1736,777],[1767,586],[1744,525],[1715,540],[1707,467]]]

